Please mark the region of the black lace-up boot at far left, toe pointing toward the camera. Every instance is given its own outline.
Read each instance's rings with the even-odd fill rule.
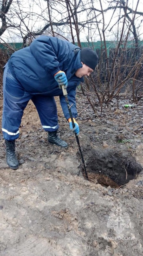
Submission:
[[[15,155],[15,140],[5,140],[6,144],[6,162],[12,170],[18,169],[19,163]]]

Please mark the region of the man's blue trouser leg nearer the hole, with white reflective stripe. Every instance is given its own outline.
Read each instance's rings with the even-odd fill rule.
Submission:
[[[35,95],[32,101],[38,111],[41,124],[46,132],[54,132],[59,128],[57,106],[54,97]]]

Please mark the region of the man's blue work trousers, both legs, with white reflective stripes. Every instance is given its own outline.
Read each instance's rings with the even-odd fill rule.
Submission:
[[[45,131],[54,132],[59,128],[54,97],[48,97],[45,94],[33,95],[26,92],[23,86],[12,76],[8,64],[4,68],[3,92],[2,131],[5,140],[18,139],[19,126],[29,100],[34,103]]]

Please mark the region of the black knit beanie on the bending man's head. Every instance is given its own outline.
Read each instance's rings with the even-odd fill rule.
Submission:
[[[89,47],[83,48],[81,50],[81,61],[94,70],[98,64],[98,55]]]

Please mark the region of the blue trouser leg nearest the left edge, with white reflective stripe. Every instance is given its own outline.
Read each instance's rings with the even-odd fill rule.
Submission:
[[[31,95],[11,75],[6,64],[3,76],[3,119],[2,131],[5,140],[16,140],[19,137],[19,126],[23,111],[31,99]]]

